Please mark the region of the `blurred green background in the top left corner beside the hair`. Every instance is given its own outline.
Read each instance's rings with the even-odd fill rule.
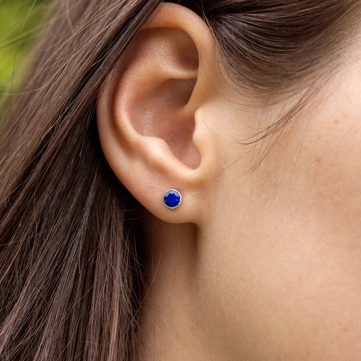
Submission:
[[[0,94],[14,92],[27,56],[46,26],[49,0],[0,0]]]

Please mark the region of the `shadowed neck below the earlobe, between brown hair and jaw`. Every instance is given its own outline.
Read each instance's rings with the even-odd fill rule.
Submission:
[[[148,244],[137,357],[147,360],[210,360],[197,313],[196,227],[169,224],[147,213]]]

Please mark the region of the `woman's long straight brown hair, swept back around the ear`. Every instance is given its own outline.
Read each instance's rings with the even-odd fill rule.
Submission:
[[[160,0],[77,0],[35,51],[0,144],[1,360],[131,360],[140,205],[101,152],[97,90]],[[335,61],[357,0],[178,1],[255,95]]]

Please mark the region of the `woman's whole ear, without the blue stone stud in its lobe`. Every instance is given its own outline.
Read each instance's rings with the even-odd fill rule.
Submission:
[[[158,6],[99,91],[97,124],[109,165],[156,217],[199,223],[221,171],[217,137],[202,112],[217,88],[206,23],[177,4]],[[175,189],[182,203],[167,208]]]

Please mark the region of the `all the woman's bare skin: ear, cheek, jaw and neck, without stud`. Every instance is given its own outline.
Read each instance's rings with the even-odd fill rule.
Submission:
[[[360,39],[277,142],[239,144],[298,94],[236,90],[182,6],[157,9],[104,83],[103,151],[145,208],[138,360],[359,360]]]

